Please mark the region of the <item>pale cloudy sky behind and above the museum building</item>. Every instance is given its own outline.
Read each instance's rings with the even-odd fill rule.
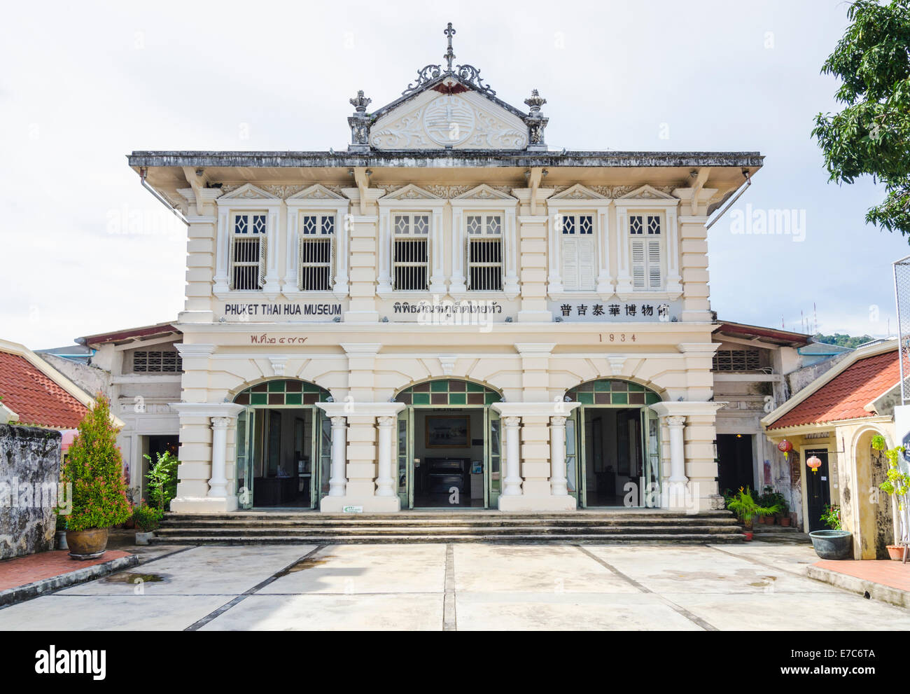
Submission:
[[[142,149],[343,149],[438,64],[456,29],[503,100],[546,97],[551,148],[760,151],[709,232],[723,320],[895,332],[900,235],[864,223],[871,179],[828,182],[810,132],[838,110],[824,59],[843,0],[687,3],[16,3],[0,25],[0,337],[32,349],[175,320],[186,228],[140,187]],[[738,211],[737,211],[738,210]],[[750,234],[780,219],[790,233]]]

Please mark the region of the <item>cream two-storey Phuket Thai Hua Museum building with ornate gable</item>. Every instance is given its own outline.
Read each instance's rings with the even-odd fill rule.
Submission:
[[[129,156],[188,225],[175,511],[718,507],[705,225],[763,157],[548,148],[446,33],[346,151]]]

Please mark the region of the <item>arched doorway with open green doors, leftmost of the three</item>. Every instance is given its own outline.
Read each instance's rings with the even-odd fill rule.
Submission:
[[[237,495],[241,508],[318,508],[329,493],[331,424],[316,403],[329,391],[274,379],[238,393]]]

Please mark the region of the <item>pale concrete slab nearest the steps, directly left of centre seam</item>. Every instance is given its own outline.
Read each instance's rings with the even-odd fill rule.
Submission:
[[[445,545],[329,545],[259,593],[441,593],[445,574]]]

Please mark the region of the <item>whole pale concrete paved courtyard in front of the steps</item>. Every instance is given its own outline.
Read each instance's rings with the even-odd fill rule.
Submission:
[[[0,629],[910,629],[805,576],[811,546],[156,547]]]

